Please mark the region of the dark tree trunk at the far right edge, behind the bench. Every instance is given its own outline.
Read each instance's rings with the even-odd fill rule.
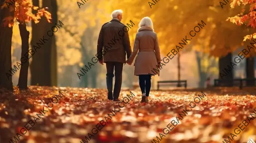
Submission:
[[[246,78],[249,79],[246,82],[247,86],[255,86],[254,77],[254,57],[246,58]]]

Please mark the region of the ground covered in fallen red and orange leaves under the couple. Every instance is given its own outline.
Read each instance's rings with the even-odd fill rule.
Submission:
[[[255,88],[204,90],[204,97],[200,90],[151,91],[149,103],[140,103],[139,90],[131,92],[135,97],[120,108],[118,103],[106,100],[107,90],[103,89],[29,86],[26,92],[15,87],[13,94],[0,89],[0,143],[12,143],[11,139],[13,143],[80,143],[86,137],[90,139],[88,133],[92,134],[100,120],[106,121],[112,109],[120,111],[109,117],[104,127],[98,124],[100,131],[89,143],[151,143],[153,139],[157,143],[156,136],[160,143],[222,143],[228,136],[232,139],[230,133],[234,134],[256,109]],[[119,99],[127,94],[131,96],[130,90],[122,90]],[[198,94],[200,102],[191,103]],[[52,97],[56,98],[54,104]],[[196,106],[192,109],[190,103]],[[182,119],[179,114],[185,112],[183,109],[187,114]],[[174,127],[170,122],[177,122],[176,117],[181,120]],[[36,123],[27,124],[29,120]],[[174,128],[164,134],[168,124]],[[26,133],[24,126],[29,129]],[[256,139],[254,120],[242,129],[232,143]]]

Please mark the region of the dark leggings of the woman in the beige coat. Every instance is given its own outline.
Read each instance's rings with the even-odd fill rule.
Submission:
[[[139,84],[142,93],[145,93],[146,96],[149,96],[151,88],[151,76],[150,74],[139,75]]]

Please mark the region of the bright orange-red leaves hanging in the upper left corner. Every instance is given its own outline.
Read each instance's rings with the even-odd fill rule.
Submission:
[[[35,23],[38,23],[41,20],[41,17],[46,17],[47,21],[50,23],[51,14],[47,11],[46,8],[38,9],[37,6],[33,6],[30,0],[16,0],[15,5],[12,5],[9,0],[5,0],[1,9],[9,9],[14,11],[14,17],[8,16],[3,19],[4,26],[14,26],[15,23],[26,23],[30,20],[33,20]],[[32,13],[32,10],[37,10],[36,14]]]

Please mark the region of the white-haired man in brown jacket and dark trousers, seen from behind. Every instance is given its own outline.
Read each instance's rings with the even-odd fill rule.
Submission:
[[[119,101],[118,97],[122,86],[122,69],[131,55],[131,44],[127,27],[121,23],[122,10],[112,12],[112,20],[103,24],[98,38],[97,57],[99,63],[106,63],[108,100]],[[103,50],[103,51],[102,51]],[[102,58],[103,57],[103,58]],[[115,69],[115,86],[113,91],[113,77]],[[113,92],[112,92],[113,91]]]

